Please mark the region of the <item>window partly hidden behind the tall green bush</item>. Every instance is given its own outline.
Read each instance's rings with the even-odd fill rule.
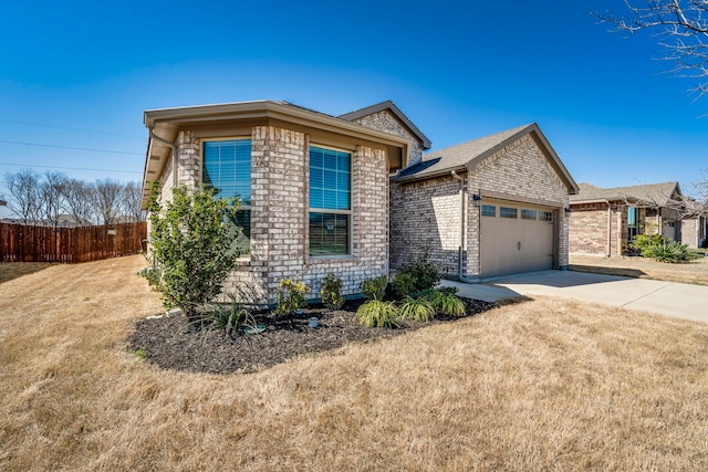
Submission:
[[[202,181],[217,198],[238,197],[241,206],[233,223],[241,228],[237,240],[241,254],[251,249],[251,140],[229,139],[204,143]]]

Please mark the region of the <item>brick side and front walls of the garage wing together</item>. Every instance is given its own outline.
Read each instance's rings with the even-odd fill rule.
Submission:
[[[471,158],[472,156],[470,156]],[[467,177],[467,176],[465,176]],[[479,207],[471,204],[472,193],[493,193],[510,200],[545,202],[554,208],[569,203],[568,188],[530,136],[523,136],[485,159],[468,176],[465,198],[467,231],[464,270],[469,276],[480,274]],[[459,181],[452,176],[391,188],[391,254],[395,269],[423,251],[428,251],[448,274],[458,271],[460,247]],[[559,260],[568,265],[568,219],[558,211]]]

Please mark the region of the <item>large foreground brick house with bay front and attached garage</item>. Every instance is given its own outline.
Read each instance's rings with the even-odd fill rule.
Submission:
[[[392,102],[341,116],[240,102],[144,119],[144,202],[155,180],[163,199],[201,183],[241,199],[244,255],[225,291],[246,282],[272,300],[280,280],[298,277],[317,297],[335,273],[355,294],[418,251],[469,281],[568,264],[563,209],[576,185],[537,125],[424,157],[430,140]]]

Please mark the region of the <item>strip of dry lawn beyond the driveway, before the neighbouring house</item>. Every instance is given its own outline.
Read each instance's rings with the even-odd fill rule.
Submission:
[[[602,258],[571,254],[570,269],[580,272],[708,285],[708,258],[667,264],[645,258]]]

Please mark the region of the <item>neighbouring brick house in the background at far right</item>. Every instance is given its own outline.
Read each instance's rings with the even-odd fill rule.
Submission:
[[[706,218],[688,204],[678,182],[601,188],[581,183],[571,196],[570,252],[629,253],[637,234],[662,234],[690,247],[706,239]]]

